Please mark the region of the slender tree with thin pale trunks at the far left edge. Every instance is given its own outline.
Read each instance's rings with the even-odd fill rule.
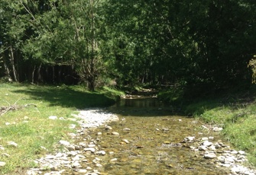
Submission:
[[[21,44],[28,24],[24,10],[17,1],[0,2],[0,54],[5,75],[18,81]]]

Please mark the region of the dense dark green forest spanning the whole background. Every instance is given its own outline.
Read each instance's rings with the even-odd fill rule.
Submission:
[[[254,55],[254,0],[0,2],[2,81],[199,94],[251,84]]]

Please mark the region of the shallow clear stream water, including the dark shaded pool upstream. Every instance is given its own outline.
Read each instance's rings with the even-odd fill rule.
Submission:
[[[195,142],[183,142],[187,136],[195,139],[213,137],[212,142],[224,142],[219,133],[203,128],[199,120],[173,116],[170,107],[152,97],[128,97],[113,107],[118,122],[91,131],[106,154],[102,159],[103,174],[229,174],[205,159],[200,151],[191,151]],[[96,133],[101,132],[101,135]],[[118,132],[119,135],[113,135]]]

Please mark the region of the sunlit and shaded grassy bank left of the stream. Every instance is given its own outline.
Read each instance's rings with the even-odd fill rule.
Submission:
[[[22,174],[25,168],[36,166],[35,158],[53,151],[60,139],[75,132],[69,127],[76,124],[70,120],[72,113],[115,103],[116,94],[109,88],[92,93],[80,86],[0,84],[0,161],[6,163],[0,174]]]

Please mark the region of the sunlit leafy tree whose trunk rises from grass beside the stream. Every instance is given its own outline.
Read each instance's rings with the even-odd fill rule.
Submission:
[[[27,58],[50,65],[72,65],[94,91],[102,69],[100,6],[99,0],[47,2],[49,10],[31,14],[35,33],[24,45]]]

